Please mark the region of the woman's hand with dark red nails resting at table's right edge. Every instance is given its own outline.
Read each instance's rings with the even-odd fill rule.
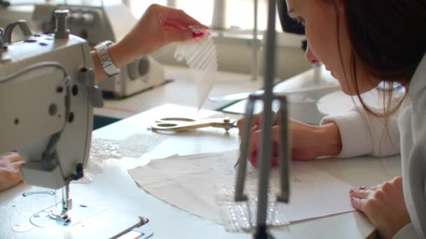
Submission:
[[[404,202],[401,177],[376,187],[350,190],[352,206],[365,213],[383,238],[392,238],[410,217]]]

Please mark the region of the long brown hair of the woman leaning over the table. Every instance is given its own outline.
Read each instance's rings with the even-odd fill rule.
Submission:
[[[353,49],[349,72],[357,97],[367,112],[387,117],[402,102],[391,106],[394,82],[408,85],[426,52],[426,0],[343,0],[343,10]],[[385,83],[383,114],[371,110],[360,96],[359,80],[366,79],[358,79],[358,67]]]

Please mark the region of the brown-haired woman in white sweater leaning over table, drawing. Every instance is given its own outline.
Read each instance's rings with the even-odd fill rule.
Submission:
[[[343,92],[362,102],[345,115],[325,117],[320,126],[291,120],[293,159],[401,152],[402,178],[352,189],[350,200],[383,238],[425,238],[426,0],[287,0],[287,6],[289,15],[305,24],[306,59],[321,61]],[[367,106],[360,94],[380,82],[388,86],[385,106]],[[404,101],[388,104],[397,93],[394,85],[404,87]],[[252,129],[252,164],[259,117]],[[273,126],[274,145],[279,127]]]

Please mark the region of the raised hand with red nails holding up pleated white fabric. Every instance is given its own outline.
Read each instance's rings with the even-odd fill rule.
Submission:
[[[111,45],[111,58],[117,67],[121,67],[169,43],[203,36],[202,33],[193,33],[191,26],[208,29],[183,10],[153,4],[123,40]]]

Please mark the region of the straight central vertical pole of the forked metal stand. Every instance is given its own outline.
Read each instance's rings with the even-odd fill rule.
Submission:
[[[268,31],[266,35],[265,54],[265,94],[263,95],[263,117],[261,123],[262,135],[259,150],[259,201],[257,207],[256,238],[268,238],[266,219],[268,211],[268,187],[271,164],[271,127],[273,124],[272,101],[273,79],[275,75],[275,0],[268,3]]]

